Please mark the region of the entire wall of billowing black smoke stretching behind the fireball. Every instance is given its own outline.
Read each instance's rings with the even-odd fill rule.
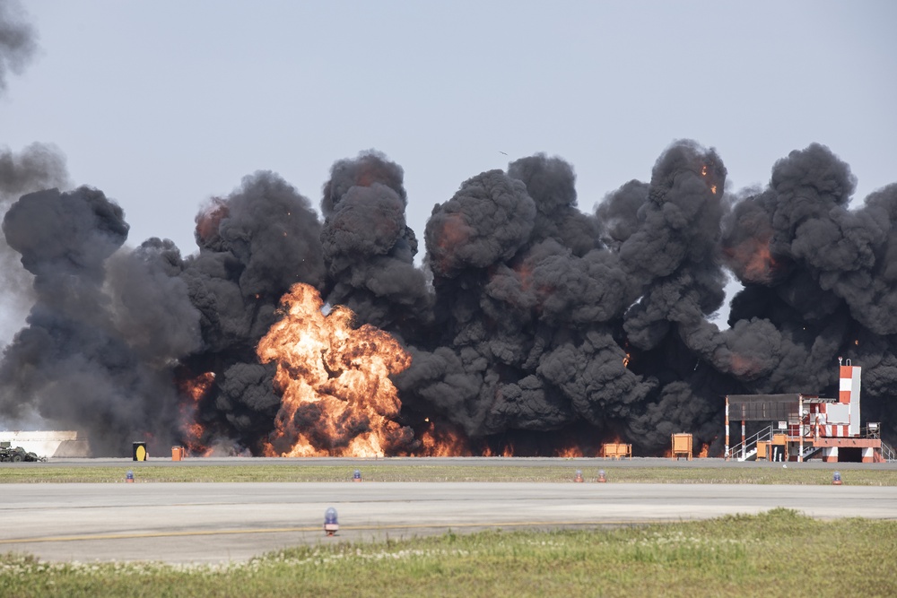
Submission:
[[[420,266],[404,172],[379,152],[335,163],[323,219],[273,173],[244,179],[201,210],[187,257],[158,238],[119,248],[122,214],[94,189],[23,195],[4,232],[37,300],[4,353],[0,413],[121,454],[141,434],[187,440],[186,404],[201,444],[260,454],[280,397],[255,347],[306,282],[412,354],[400,423],[458,431],[474,454],[612,438],[659,454],[681,431],[718,452],[725,394],[832,394],[839,356],[894,438],[897,186],[850,209],[855,178],[818,144],[763,188],[726,177],[717,152],[676,142],[586,213],[568,162],[515,160],[433,207]],[[729,276],[744,289],[721,330]],[[212,382],[192,403],[197,380]]]

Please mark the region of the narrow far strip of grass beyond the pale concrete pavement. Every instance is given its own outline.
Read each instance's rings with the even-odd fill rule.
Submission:
[[[184,465],[159,466],[145,463],[122,466],[63,467],[40,464],[0,467],[0,483],[125,481],[132,471],[137,482],[155,481],[349,481],[356,466],[297,464]],[[358,466],[364,481],[572,481],[580,469],[586,481],[593,482],[599,467],[583,467],[560,462],[556,466],[512,465],[427,465],[364,464]],[[601,465],[607,480],[675,484],[831,484],[832,471],[804,469],[792,465],[779,467],[614,467]],[[849,469],[841,471],[851,486],[897,486],[897,470]]]

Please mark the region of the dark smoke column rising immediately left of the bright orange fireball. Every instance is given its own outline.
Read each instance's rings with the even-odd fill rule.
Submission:
[[[215,382],[197,397],[203,432],[193,443],[228,438],[257,450],[271,431],[280,397],[274,366],[258,362],[256,346],[294,283],[323,284],[320,230],[309,200],[271,172],[244,178],[196,217],[199,253],[178,265],[203,342],[179,375],[188,388],[209,374]]]

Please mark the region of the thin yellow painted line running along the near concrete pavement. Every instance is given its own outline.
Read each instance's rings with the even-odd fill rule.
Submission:
[[[643,525],[670,523],[675,521],[683,521],[683,519],[621,519],[621,520],[604,520],[604,521],[517,521],[495,524],[395,524],[395,525],[340,525],[341,532],[366,532],[378,530],[414,530],[427,529],[433,527],[444,527],[446,529],[466,528],[466,527],[537,527],[540,525],[561,526],[561,525]],[[10,538],[0,540],[0,544],[33,544],[38,542],[87,542],[91,540],[135,540],[141,538],[177,538],[185,536],[215,536],[215,535],[234,535],[240,533],[291,533],[291,532],[322,532],[323,524],[306,526],[306,527],[267,527],[254,530],[196,530],[191,532],[145,532],[145,533],[89,533],[83,535],[70,536],[45,536],[37,538]]]

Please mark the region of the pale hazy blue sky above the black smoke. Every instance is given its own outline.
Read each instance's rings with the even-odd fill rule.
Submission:
[[[257,169],[317,207],[333,162],[370,148],[405,169],[418,238],[466,178],[535,152],[570,161],[586,212],[683,137],[733,189],[811,142],[859,199],[897,182],[891,0],[25,8],[39,52],[7,77],[0,147],[55,143],[74,184],[124,208],[131,245],[193,253],[199,206]]]

